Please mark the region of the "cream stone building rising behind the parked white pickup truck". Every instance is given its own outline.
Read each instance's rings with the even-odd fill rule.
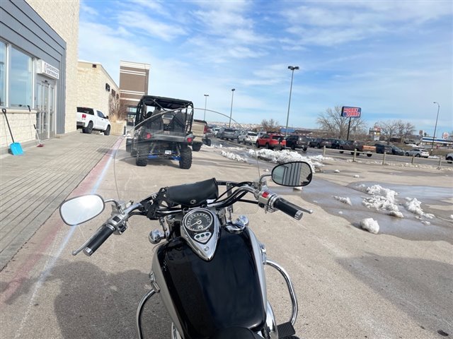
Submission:
[[[110,121],[117,117],[120,88],[97,62],[79,61],[77,64],[77,106],[99,109]],[[74,126],[76,125],[73,120]]]

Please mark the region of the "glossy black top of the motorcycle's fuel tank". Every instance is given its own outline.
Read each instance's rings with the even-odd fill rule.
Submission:
[[[222,229],[211,261],[181,238],[161,246],[157,256],[185,339],[211,338],[231,326],[263,328],[265,306],[247,230]]]

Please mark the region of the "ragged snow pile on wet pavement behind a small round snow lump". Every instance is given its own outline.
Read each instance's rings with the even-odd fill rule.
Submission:
[[[366,187],[362,184],[357,188],[371,196],[363,199],[362,203],[365,207],[374,208],[376,210],[385,210],[389,215],[393,215],[397,218],[404,218],[403,213],[399,211],[399,208],[395,203],[395,196],[398,194],[396,191],[385,189],[380,185]]]

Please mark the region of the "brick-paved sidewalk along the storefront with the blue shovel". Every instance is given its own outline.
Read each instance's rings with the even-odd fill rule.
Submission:
[[[118,136],[79,131],[0,158],[0,270],[111,149]]]

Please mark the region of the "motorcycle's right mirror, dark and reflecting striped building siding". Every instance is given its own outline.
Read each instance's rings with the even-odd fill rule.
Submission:
[[[282,186],[306,186],[311,182],[312,176],[311,166],[304,161],[286,162],[272,170],[273,182]]]

